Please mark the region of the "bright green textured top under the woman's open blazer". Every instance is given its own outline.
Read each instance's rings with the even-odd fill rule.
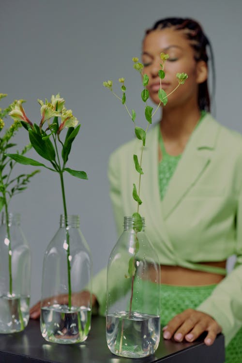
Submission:
[[[200,123],[200,121],[203,119],[205,115],[206,111],[201,111],[201,117],[198,120],[197,125]],[[169,181],[176,170],[179,160],[181,159],[181,154],[173,156],[166,152],[160,127],[159,127],[159,144],[162,151],[162,160],[158,164],[158,179],[159,179],[160,198],[161,200],[163,200],[166,194],[166,189],[168,187]]]

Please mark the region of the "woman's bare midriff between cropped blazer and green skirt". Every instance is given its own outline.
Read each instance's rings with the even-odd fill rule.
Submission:
[[[203,262],[202,265],[226,268],[226,261]],[[218,284],[225,276],[218,273],[186,269],[181,266],[161,265],[161,283],[176,286]]]

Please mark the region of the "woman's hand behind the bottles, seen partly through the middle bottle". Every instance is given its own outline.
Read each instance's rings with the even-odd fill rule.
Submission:
[[[75,292],[72,294],[72,304],[76,306],[81,306],[84,304],[88,304],[90,299],[90,292],[89,291],[81,291],[81,292]],[[47,302],[53,302],[56,303],[58,300],[58,303],[61,305],[68,305],[68,294],[62,294],[58,296],[54,296],[48,299],[45,299],[43,301],[43,305],[47,305]],[[95,295],[92,294],[91,296],[92,300],[92,311],[94,307],[97,307],[98,302]],[[36,302],[35,305],[33,305],[30,308],[30,319],[38,319],[40,317],[40,310],[41,310],[41,302]]]

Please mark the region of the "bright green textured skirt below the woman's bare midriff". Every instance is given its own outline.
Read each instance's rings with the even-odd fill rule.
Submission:
[[[139,281],[139,296],[142,299],[145,293],[145,300],[149,304],[157,302],[157,286],[148,281]],[[134,287],[134,290],[137,286]],[[165,326],[173,317],[186,309],[196,307],[207,299],[216,285],[206,286],[171,286],[161,284],[161,324]],[[142,292],[141,292],[142,291]],[[135,302],[134,302],[134,305]],[[132,309],[135,306],[132,304]],[[155,307],[154,307],[155,311]],[[242,363],[242,329],[234,336],[226,347],[225,363]]]

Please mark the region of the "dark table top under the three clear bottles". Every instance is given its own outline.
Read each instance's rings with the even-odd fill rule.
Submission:
[[[42,337],[39,321],[30,320],[20,333],[0,334],[1,363],[223,363],[224,336],[219,334],[210,347],[202,339],[177,343],[161,339],[155,354],[143,359],[113,355],[106,345],[106,319],[92,317],[91,332],[82,344],[48,343]]]

